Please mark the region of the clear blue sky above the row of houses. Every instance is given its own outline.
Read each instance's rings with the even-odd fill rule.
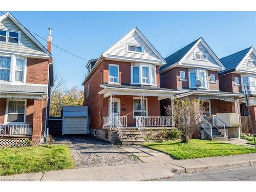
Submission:
[[[97,58],[137,26],[165,58],[203,37],[219,58],[256,46],[256,12],[11,12],[42,37],[53,29],[53,44],[86,59]],[[44,40],[36,37],[42,45]],[[55,47],[54,70],[67,88],[79,86],[87,61]]]

